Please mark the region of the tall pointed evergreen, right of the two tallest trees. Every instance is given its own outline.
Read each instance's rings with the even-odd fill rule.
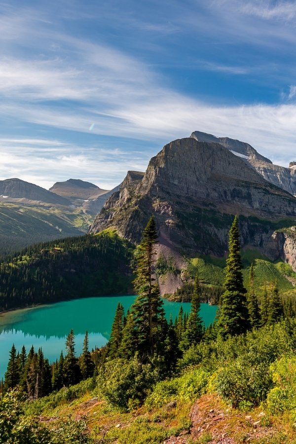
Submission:
[[[221,297],[219,310],[219,334],[226,338],[235,334],[245,333],[250,328],[247,309],[247,290],[243,285],[241,272],[238,220],[235,216],[229,231],[229,256],[226,259],[226,275],[224,293]]]

